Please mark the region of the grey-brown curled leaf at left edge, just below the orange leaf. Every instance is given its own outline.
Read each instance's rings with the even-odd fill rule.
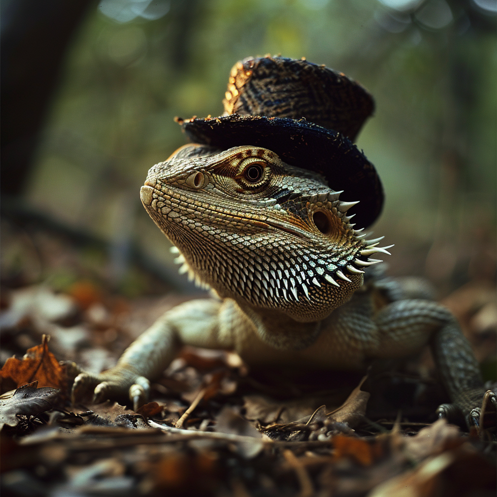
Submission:
[[[0,399],[0,429],[4,424],[16,426],[18,414],[35,416],[52,409],[59,390],[55,388],[36,388],[37,381],[16,389],[12,396]]]

